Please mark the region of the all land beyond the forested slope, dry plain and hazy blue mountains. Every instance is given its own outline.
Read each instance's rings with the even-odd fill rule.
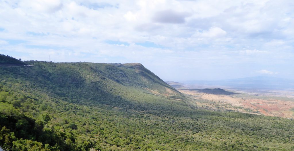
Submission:
[[[267,87],[265,87],[265,84],[259,87],[260,82],[252,82],[253,79],[258,80],[260,78],[264,80],[264,83],[267,83]],[[249,81],[246,81],[246,79]],[[285,90],[283,88],[279,90],[282,84],[278,85],[278,80],[287,81],[280,78],[253,77],[239,80],[226,80],[226,82],[223,83],[218,81],[216,82],[218,85],[213,85],[211,81],[206,82],[205,85],[204,83],[202,83],[203,85],[199,85],[201,82],[194,82],[198,85],[191,85],[191,83],[187,85],[174,81],[168,81],[167,83],[177,88],[187,97],[193,98],[191,100],[192,103],[205,109],[232,110],[243,113],[294,118],[294,91],[291,89]],[[232,81],[231,84],[229,84],[229,81]],[[290,81],[291,80],[288,80],[289,87],[292,85]],[[238,85],[238,87],[236,85]],[[242,87],[242,85],[244,87]],[[245,85],[247,85],[247,87],[245,87]],[[209,88],[203,89],[203,87]],[[222,87],[227,91],[215,87]],[[218,92],[216,92],[216,90],[218,90]]]

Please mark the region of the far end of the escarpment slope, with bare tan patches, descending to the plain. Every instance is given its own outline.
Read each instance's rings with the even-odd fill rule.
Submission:
[[[143,88],[144,92],[167,97],[181,97],[180,92],[165,83],[142,64],[87,63],[104,77],[128,87]]]

